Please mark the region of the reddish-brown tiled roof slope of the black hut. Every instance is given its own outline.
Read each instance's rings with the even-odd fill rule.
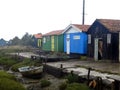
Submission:
[[[112,32],[120,31],[120,20],[114,19],[97,19],[102,25]]]

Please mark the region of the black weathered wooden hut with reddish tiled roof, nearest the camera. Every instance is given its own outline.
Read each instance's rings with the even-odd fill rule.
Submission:
[[[96,19],[88,29],[88,56],[119,61],[120,20]]]

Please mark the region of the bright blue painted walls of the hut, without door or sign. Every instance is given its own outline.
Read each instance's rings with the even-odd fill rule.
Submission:
[[[64,34],[64,52],[67,50],[66,34]],[[80,36],[80,39],[74,39],[74,36]],[[70,33],[70,53],[87,54],[87,34]]]

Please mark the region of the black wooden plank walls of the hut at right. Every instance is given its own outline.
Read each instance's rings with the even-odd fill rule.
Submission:
[[[98,38],[102,41],[102,59],[118,61],[119,50],[119,34],[110,32],[101,23],[95,21],[88,30],[88,35],[91,35],[91,43],[88,44],[88,56],[94,57],[94,40]],[[111,43],[107,43],[107,34],[111,34]]]

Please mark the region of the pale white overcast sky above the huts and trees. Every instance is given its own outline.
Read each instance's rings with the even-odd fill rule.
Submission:
[[[0,38],[61,30],[82,23],[83,0],[0,0]],[[120,19],[120,0],[85,0],[85,24]]]

